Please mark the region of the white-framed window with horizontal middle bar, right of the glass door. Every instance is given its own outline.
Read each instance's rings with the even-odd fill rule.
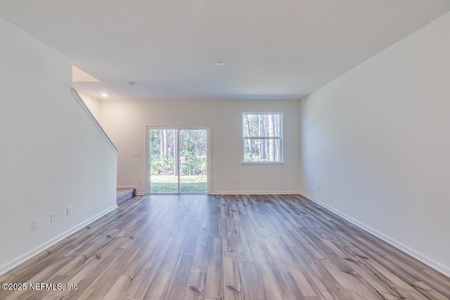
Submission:
[[[243,162],[283,162],[281,112],[243,112]]]

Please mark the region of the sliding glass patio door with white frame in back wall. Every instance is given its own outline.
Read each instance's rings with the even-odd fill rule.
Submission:
[[[208,192],[208,130],[148,127],[148,190]]]

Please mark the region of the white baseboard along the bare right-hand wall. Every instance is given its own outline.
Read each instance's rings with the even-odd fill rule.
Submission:
[[[430,259],[428,256],[425,256],[425,255],[417,252],[416,250],[411,249],[410,247],[406,246],[405,244],[402,244],[401,242],[394,240],[392,237],[389,237],[383,233],[380,233],[378,230],[375,230],[375,229],[371,228],[370,226],[367,226],[366,224],[361,223],[360,221],[358,221],[356,219],[353,219],[351,216],[347,216],[347,214],[344,214],[341,211],[338,211],[338,209],[334,209],[333,207],[330,207],[330,205],[323,203],[314,197],[311,197],[307,193],[300,192],[300,195],[315,202],[316,204],[319,204],[321,207],[324,207],[324,208],[328,209],[329,211],[332,211],[334,214],[337,214],[338,216],[340,216],[343,219],[349,221],[350,223],[358,226],[359,228],[366,230],[368,233],[375,235],[375,237],[378,237],[380,240],[383,240],[383,241],[387,242],[388,244],[391,244],[392,246],[396,247],[397,249],[405,252],[406,254],[413,256],[413,258],[425,263],[427,266],[430,266],[431,268],[434,268],[435,270],[439,271],[440,273],[450,277],[449,266],[444,266],[442,263],[438,263],[437,261]]]

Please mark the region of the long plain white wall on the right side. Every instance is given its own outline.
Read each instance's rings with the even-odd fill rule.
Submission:
[[[447,275],[449,37],[447,13],[301,103],[302,193]]]

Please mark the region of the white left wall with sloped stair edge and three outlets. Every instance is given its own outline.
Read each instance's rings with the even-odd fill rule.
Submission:
[[[70,60],[1,18],[0,40],[4,273],[116,207],[117,155],[70,93]]]

